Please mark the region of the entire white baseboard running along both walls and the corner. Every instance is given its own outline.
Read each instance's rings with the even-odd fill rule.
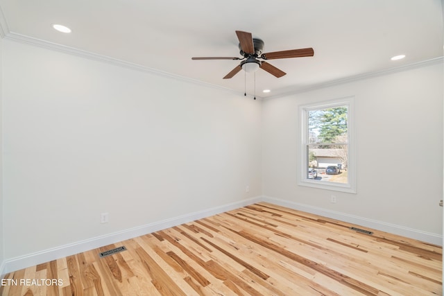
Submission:
[[[114,232],[112,234],[106,234],[103,236],[90,238],[84,241],[78,241],[76,243],[71,243],[68,245],[61,245],[60,247],[54,247],[49,250],[43,250],[41,252],[35,252],[33,254],[27,254],[25,256],[19,256],[16,258],[7,259],[6,261],[3,261],[3,263],[1,263],[0,265],[0,275],[2,278],[3,275],[6,275],[6,273],[8,272],[20,270],[22,268],[27,268],[28,266],[33,266],[40,263],[56,260],[65,256],[71,256],[73,254],[78,254],[80,252],[92,250],[97,247],[102,247],[104,245],[119,243],[120,241],[125,241],[127,239],[134,238],[136,236],[142,236],[144,234],[148,234],[151,232],[157,232],[159,230],[180,225],[182,223],[188,223],[201,218],[220,214],[223,213],[224,211],[231,211],[232,209],[245,207],[249,204],[254,204],[256,202],[262,202],[262,201],[270,202],[272,204],[278,204],[282,207],[288,207],[290,209],[306,211],[307,213],[316,214],[327,218],[341,220],[347,223],[353,223],[355,225],[361,225],[364,227],[377,229],[391,234],[407,236],[409,238],[414,238],[419,241],[432,243],[434,245],[443,245],[443,236],[439,234],[422,232],[417,229],[402,227],[400,225],[394,225],[391,223],[384,223],[382,221],[371,220],[368,218],[353,216],[350,214],[344,214],[341,212],[331,211],[328,209],[312,207],[308,204],[300,204],[298,202],[292,202],[289,200],[281,200],[278,198],[271,198],[268,196],[257,196],[255,198],[239,200],[238,202],[223,204],[219,207],[213,207],[202,211],[196,211],[191,214],[186,214],[175,218],[161,220],[155,223],[150,223],[147,225],[142,225],[131,229],[126,229],[121,232]]]

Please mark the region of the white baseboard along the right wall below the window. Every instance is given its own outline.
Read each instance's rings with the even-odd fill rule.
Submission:
[[[319,216],[341,220],[347,223],[352,223],[372,229],[377,229],[382,232],[388,232],[391,234],[398,234],[400,236],[406,236],[418,241],[424,241],[426,243],[432,243],[434,245],[443,245],[443,236],[440,234],[434,234],[431,232],[422,232],[418,229],[412,229],[401,225],[395,225],[391,223],[385,223],[378,220],[372,220],[364,217],[354,216],[350,214],[344,214],[338,211],[331,211],[329,209],[322,209],[319,207],[313,207],[308,204],[300,204],[298,202],[292,202],[289,200],[281,200],[279,198],[271,198],[268,196],[262,197],[262,201],[277,204],[282,207],[288,207],[290,209],[296,209],[299,211],[305,211],[307,213],[316,214]]]

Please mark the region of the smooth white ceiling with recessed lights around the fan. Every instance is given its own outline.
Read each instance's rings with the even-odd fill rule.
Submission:
[[[0,33],[12,40],[103,56],[253,95],[254,75],[222,79],[239,61],[234,31],[264,52],[312,47],[314,57],[268,60],[256,96],[298,92],[443,56],[441,0],[0,0]],[[59,33],[51,24],[69,26]],[[393,55],[406,55],[391,61]],[[262,89],[271,89],[263,94]]]

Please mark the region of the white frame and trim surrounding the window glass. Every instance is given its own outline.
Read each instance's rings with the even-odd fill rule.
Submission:
[[[308,134],[308,112],[334,107],[347,106],[347,134],[348,134],[348,183],[335,183],[322,180],[311,180],[307,178],[308,160],[307,145],[309,142]],[[355,97],[336,98],[330,101],[322,101],[299,106],[300,131],[299,137],[299,159],[298,165],[298,185],[309,186],[318,189],[331,191],[342,191],[347,193],[356,193],[356,145],[355,145]]]

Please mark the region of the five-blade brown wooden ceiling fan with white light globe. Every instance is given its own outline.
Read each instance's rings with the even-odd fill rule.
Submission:
[[[246,72],[253,72],[261,68],[271,75],[280,78],[286,73],[265,60],[275,60],[283,58],[302,58],[311,57],[314,51],[311,47],[307,49],[290,49],[288,51],[274,51],[272,53],[262,53],[264,42],[259,38],[253,38],[251,33],[244,31],[236,31],[237,39],[239,39],[239,50],[243,58],[237,57],[200,57],[191,58],[191,60],[242,60],[239,65],[230,71],[223,79],[232,78],[239,73],[241,69]],[[258,60],[261,59],[261,60]],[[264,60],[264,61],[262,61]]]

